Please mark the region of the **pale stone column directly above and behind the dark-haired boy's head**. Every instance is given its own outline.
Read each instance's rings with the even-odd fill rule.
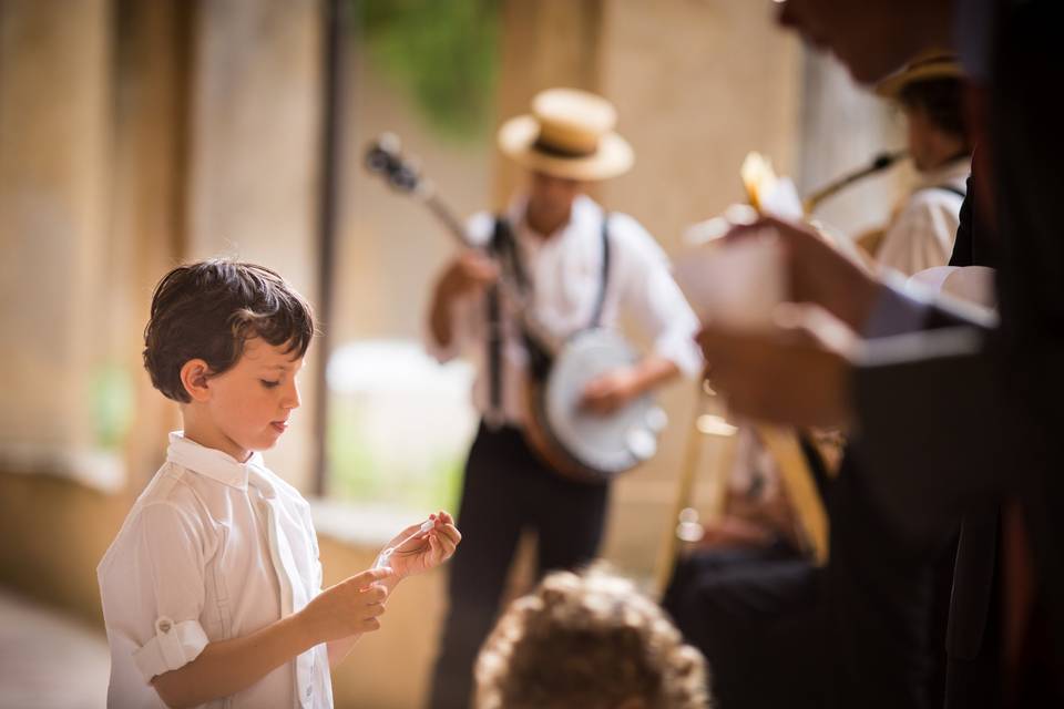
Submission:
[[[188,255],[234,256],[316,292],[321,3],[204,0],[195,23]],[[267,462],[311,483],[316,360],[303,409]]]

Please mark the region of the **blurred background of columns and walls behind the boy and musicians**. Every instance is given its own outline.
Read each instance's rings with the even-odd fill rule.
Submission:
[[[95,565],[177,428],[140,353],[152,287],[181,261],[264,264],[323,317],[304,407],[266,458],[311,500],[327,583],[456,507],[472,371],[420,345],[451,243],[362,152],[392,131],[460,213],[498,208],[520,175],[494,131],[555,85],[617,106],[636,166],[593,196],[674,254],[744,199],[748,151],[808,193],[903,143],[770,0],[0,0],[0,707],[103,706]],[[910,179],[818,216],[873,227]],[[719,459],[695,392],[665,391],[661,453],[613,494],[605,556],[647,586],[688,438],[699,475]],[[442,583],[399,590],[334,672],[337,706],[419,706]]]

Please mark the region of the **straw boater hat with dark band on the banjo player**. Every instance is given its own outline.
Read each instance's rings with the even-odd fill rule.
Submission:
[[[528,169],[580,181],[606,179],[628,171],[635,154],[613,131],[617,112],[601,96],[549,89],[532,100],[532,113],[499,129],[499,148]]]

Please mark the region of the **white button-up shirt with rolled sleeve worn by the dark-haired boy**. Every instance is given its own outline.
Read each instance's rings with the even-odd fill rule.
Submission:
[[[96,568],[111,646],[108,707],[164,707],[152,677],[249,635],[321,590],[309,505],[270,472],[171,433],[166,462]],[[205,707],[332,706],[318,645]]]

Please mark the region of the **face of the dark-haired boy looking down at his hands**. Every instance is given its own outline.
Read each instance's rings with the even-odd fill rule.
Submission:
[[[285,349],[252,338],[232,369],[207,380],[211,394],[203,403],[209,423],[237,460],[276,445],[299,407],[296,374],[303,358],[293,359]]]

